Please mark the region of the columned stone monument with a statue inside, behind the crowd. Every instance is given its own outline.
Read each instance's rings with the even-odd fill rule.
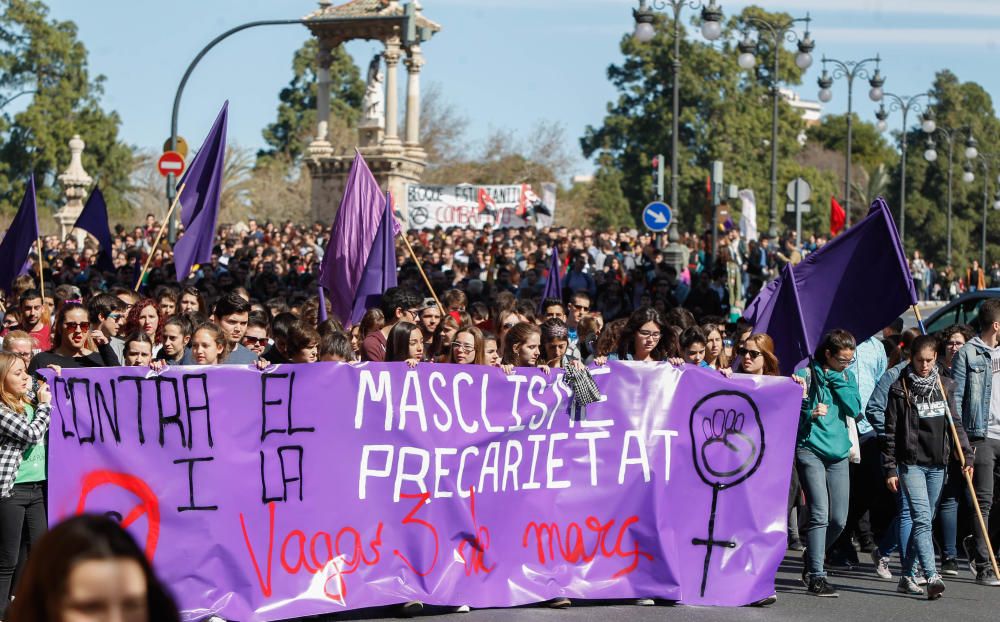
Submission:
[[[424,17],[419,0],[405,5],[399,0],[353,0],[336,6],[324,0],[305,20],[319,40],[316,136],[306,157],[312,177],[311,215],[314,220],[330,223],[340,207],[354,160],[353,146],[335,153],[329,140],[330,50],[355,39],[381,41],[385,46],[368,67],[357,147],[379,185],[401,196],[407,183],[420,181],[426,165],[426,153],[420,145],[420,69],[424,65],[420,44],[441,26]],[[402,136],[398,92],[401,60],[408,78]]]

